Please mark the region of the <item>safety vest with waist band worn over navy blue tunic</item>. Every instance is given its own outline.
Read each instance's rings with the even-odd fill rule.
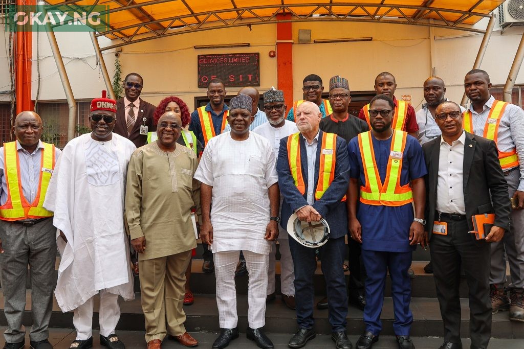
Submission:
[[[409,184],[400,185],[402,155],[406,148],[408,133],[394,130],[391,140],[386,180],[381,183],[378,173],[371,131],[358,134],[358,145],[361,151],[362,166],[366,176],[366,186],[361,186],[361,202],[375,206],[402,206],[413,201]]]

